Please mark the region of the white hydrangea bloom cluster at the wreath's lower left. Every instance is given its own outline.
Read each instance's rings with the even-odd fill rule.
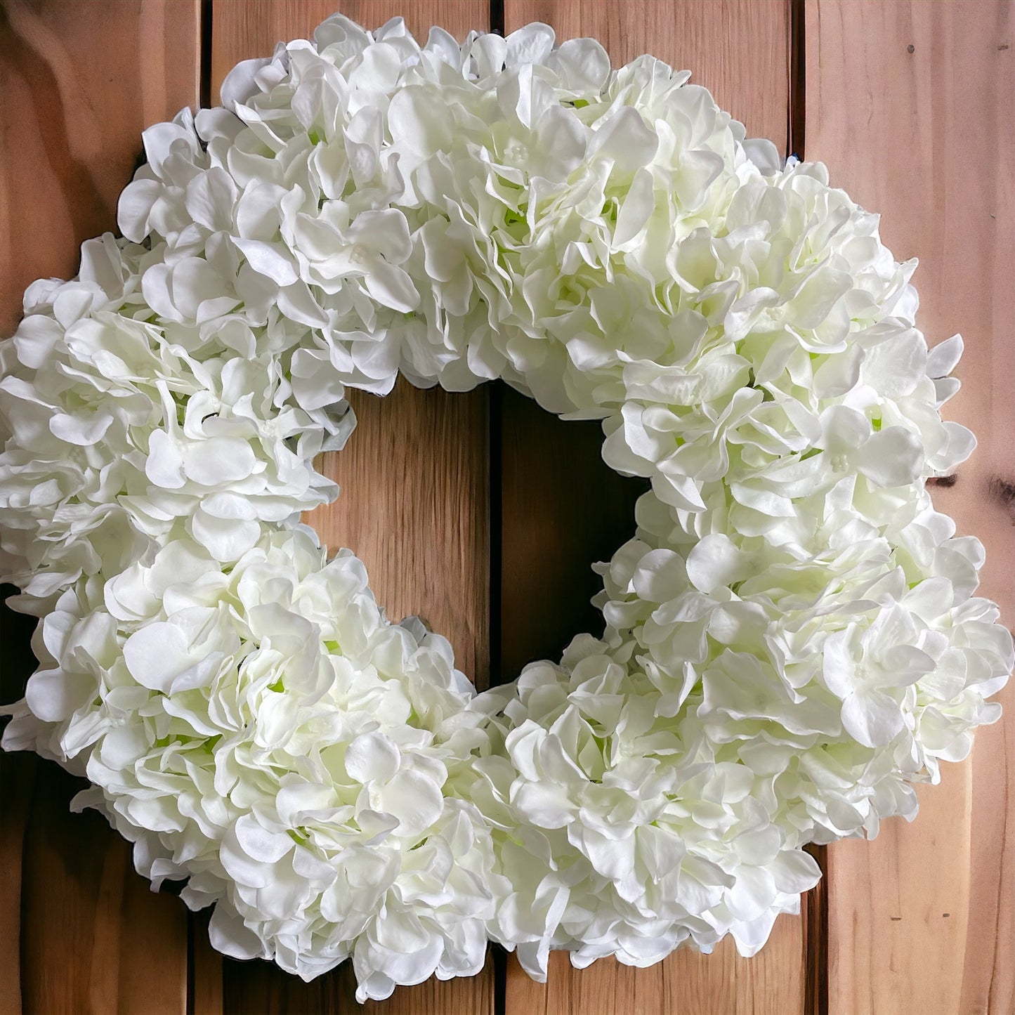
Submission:
[[[182,537],[65,592],[39,648],[9,746],[86,774],[78,804],[153,882],[217,899],[223,951],[304,976],[351,956],[363,997],[482,967],[492,842],[455,786],[485,717],[351,553],[279,530],[223,569]]]

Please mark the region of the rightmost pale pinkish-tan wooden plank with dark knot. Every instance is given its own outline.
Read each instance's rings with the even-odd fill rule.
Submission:
[[[1010,625],[1015,5],[809,0],[804,17],[807,157],[884,215],[897,258],[920,258],[929,341],[965,338],[946,412],[979,447],[934,499],[985,543],[980,592]],[[1013,691],[971,761],[921,791],[912,825],[830,848],[830,1011],[1015,1011]]]

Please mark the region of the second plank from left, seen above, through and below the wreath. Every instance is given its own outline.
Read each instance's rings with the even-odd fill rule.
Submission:
[[[340,6],[367,27],[401,14],[421,39],[431,24],[463,38],[488,22],[482,0],[363,0]],[[278,40],[312,35],[335,7],[334,0],[213,4],[213,100],[238,61],[271,53]],[[400,382],[387,398],[353,392],[350,401],[359,428],[346,449],[324,464],[343,493],[310,522],[333,550],[348,546],[364,560],[390,616],[422,616],[450,638],[459,667],[484,686],[489,659],[487,393],[449,395]],[[223,977],[226,1012],[354,1007],[355,984],[347,964],[303,984],[270,963],[226,960]],[[478,976],[449,983],[431,978],[366,1009],[405,1015],[492,1012],[492,962]]]

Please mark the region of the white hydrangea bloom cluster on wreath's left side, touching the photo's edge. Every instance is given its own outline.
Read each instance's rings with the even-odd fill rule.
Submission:
[[[352,428],[344,391],[327,414],[294,404],[277,311],[202,320],[194,297],[189,319],[160,318],[152,257],[88,241],[79,278],[37,282],[0,345],[2,550],[26,612],[185,533],[231,562],[337,493],[313,460]]]

